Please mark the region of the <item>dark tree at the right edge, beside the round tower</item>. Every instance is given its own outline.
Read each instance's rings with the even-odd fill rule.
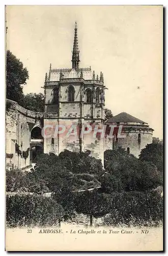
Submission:
[[[139,160],[154,163],[159,172],[163,172],[163,144],[162,142],[146,145],[139,155]]]

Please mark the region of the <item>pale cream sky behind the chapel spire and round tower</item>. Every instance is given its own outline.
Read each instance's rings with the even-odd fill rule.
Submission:
[[[162,138],[161,6],[8,6],[7,49],[30,75],[24,93],[44,92],[50,63],[71,68],[75,20],[80,67],[103,72],[106,107]]]

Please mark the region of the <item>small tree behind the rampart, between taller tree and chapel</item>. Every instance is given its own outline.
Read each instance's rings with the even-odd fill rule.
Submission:
[[[44,112],[44,94],[29,93],[24,96],[23,107],[36,112]]]

